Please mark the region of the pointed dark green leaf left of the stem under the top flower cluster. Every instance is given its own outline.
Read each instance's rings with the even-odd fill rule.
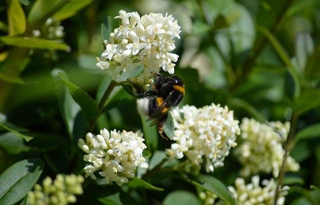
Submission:
[[[69,88],[73,99],[81,107],[81,110],[83,111],[83,114],[85,115],[87,121],[89,122],[91,120],[94,120],[98,116],[98,107],[95,101],[81,88],[66,80],[67,76],[65,73],[59,72],[59,76],[61,77],[65,85]]]

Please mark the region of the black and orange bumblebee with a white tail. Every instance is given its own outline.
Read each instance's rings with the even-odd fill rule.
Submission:
[[[149,116],[146,121],[151,121],[150,126],[157,124],[159,134],[167,139],[163,132],[163,125],[170,108],[181,101],[184,95],[184,84],[181,78],[175,75],[153,74],[155,81],[152,85],[153,90],[143,92],[142,89],[136,89],[139,97],[136,105],[139,113]]]

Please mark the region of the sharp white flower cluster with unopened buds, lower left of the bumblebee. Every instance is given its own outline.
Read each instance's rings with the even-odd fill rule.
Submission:
[[[105,178],[105,182],[115,181],[119,186],[128,182],[128,178],[134,177],[136,166],[147,168],[148,164],[142,156],[146,148],[142,138],[143,133],[109,131],[101,129],[100,134],[93,135],[88,132],[85,141],[79,139],[78,146],[86,153],[84,161],[90,162],[84,167],[85,177],[96,179],[94,171]]]

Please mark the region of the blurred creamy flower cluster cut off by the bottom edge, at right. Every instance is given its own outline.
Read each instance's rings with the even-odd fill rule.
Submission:
[[[228,186],[228,189],[233,194],[235,201],[243,205],[272,205],[274,202],[274,195],[276,190],[276,182],[273,178],[270,180],[264,179],[259,185],[260,178],[258,175],[252,176],[251,183],[245,184],[243,178],[235,179],[235,188]],[[284,203],[284,196],[287,194],[288,186],[280,188],[279,197],[276,200],[277,205]]]

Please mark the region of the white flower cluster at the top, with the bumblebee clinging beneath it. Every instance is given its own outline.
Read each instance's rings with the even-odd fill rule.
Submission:
[[[150,72],[159,72],[161,67],[170,74],[174,72],[173,62],[178,55],[170,51],[175,48],[173,39],[180,38],[181,31],[172,15],[150,13],[140,17],[137,12],[120,10],[115,18],[120,18],[122,24],[110,33],[104,52],[97,58],[100,69],[121,81],[121,72],[143,66],[143,73],[133,79],[142,84],[148,81]]]

